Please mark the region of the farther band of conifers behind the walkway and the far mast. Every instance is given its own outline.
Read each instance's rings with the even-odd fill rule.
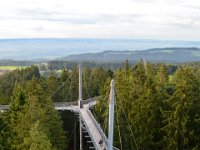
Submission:
[[[99,89],[103,86],[108,77],[113,76],[111,70],[105,70],[102,67],[91,69],[84,67],[83,69],[83,98],[98,96]],[[26,69],[17,69],[0,77],[0,104],[9,104],[15,86],[18,84],[32,80],[32,78],[41,79],[43,86],[46,86],[46,94],[53,101],[75,101],[78,99],[78,68],[74,67],[71,70],[63,69],[60,76],[51,72],[50,76],[45,78],[39,73],[36,66],[31,66]]]

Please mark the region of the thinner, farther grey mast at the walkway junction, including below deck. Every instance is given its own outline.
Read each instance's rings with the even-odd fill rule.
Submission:
[[[82,65],[79,64],[79,99],[78,105],[79,108],[83,108],[83,101],[82,101]],[[79,114],[79,125],[80,125],[80,150],[83,150],[83,132],[82,132],[82,121],[81,115]]]

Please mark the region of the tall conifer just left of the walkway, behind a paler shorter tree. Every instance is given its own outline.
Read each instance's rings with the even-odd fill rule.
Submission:
[[[44,89],[38,80],[33,79],[27,88],[29,91],[29,110],[33,123],[39,120],[41,126],[46,128],[47,136],[50,138],[53,148],[57,150],[64,149],[66,147],[66,136],[62,129],[62,121],[49,96],[44,93]],[[34,104],[35,102],[37,103]],[[34,111],[34,107],[39,110]],[[37,113],[40,114],[40,118],[37,118]]]

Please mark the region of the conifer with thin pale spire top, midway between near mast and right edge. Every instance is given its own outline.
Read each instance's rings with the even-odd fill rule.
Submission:
[[[156,90],[154,71],[149,64],[146,67],[143,92],[133,102],[130,120],[139,149],[160,149],[161,102]]]

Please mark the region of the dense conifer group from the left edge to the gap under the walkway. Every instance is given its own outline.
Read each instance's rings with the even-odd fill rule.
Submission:
[[[37,67],[8,73],[0,85],[1,103],[10,104],[8,111],[0,113],[0,149],[67,148],[61,117]]]

